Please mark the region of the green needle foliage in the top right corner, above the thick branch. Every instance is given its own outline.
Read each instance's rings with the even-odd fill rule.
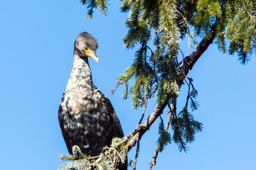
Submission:
[[[255,3],[252,0],[198,0],[193,26],[197,33],[207,32],[216,22],[216,43],[220,51],[237,53],[241,64],[246,64],[256,47]]]

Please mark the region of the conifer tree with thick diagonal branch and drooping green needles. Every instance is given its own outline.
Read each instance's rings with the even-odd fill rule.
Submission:
[[[108,0],[81,2],[87,5],[88,18],[92,18],[94,8],[102,14],[108,13]],[[130,162],[135,170],[139,140],[158,117],[161,119],[159,138],[149,169],[155,165],[159,152],[172,141],[180,151],[188,151],[187,144],[203,128],[192,114],[199,106],[195,100],[198,91],[193,79],[188,77],[195,62],[213,42],[222,53],[237,53],[241,64],[247,64],[256,52],[255,0],[123,0],[121,12],[129,12],[124,46],[132,49],[137,44],[139,49],[132,65],[119,75],[112,94],[124,85],[123,99],[132,96],[133,108],[144,108],[141,119],[135,130],[123,139],[113,139],[112,146],[104,148],[97,158],[83,155],[74,146],[73,155],[60,155],[61,160],[68,160],[60,170],[115,169],[137,144],[135,160]],[[198,38],[202,40],[198,42]],[[188,40],[186,52],[180,50],[184,39]],[[177,112],[182,85],[187,86],[187,97],[185,106]],[[151,98],[157,105],[142,122]],[[161,113],[166,107],[169,116],[164,120]]]

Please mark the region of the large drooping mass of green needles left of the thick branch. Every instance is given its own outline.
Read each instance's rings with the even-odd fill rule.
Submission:
[[[180,89],[177,84],[176,60],[181,40],[186,34],[184,30],[187,30],[187,22],[177,13],[177,2],[174,0],[124,1],[121,11],[130,11],[126,20],[129,30],[123,38],[124,46],[128,49],[134,48],[136,44],[141,46],[135,53],[135,62],[119,76],[119,82],[134,79],[130,90],[126,86],[124,99],[127,98],[128,93],[131,94],[133,108],[137,109],[142,107],[145,99],[154,93],[157,102],[164,102],[168,94],[178,95]],[[154,36],[154,50],[149,47],[152,36]],[[127,77],[129,79],[126,79]]]

